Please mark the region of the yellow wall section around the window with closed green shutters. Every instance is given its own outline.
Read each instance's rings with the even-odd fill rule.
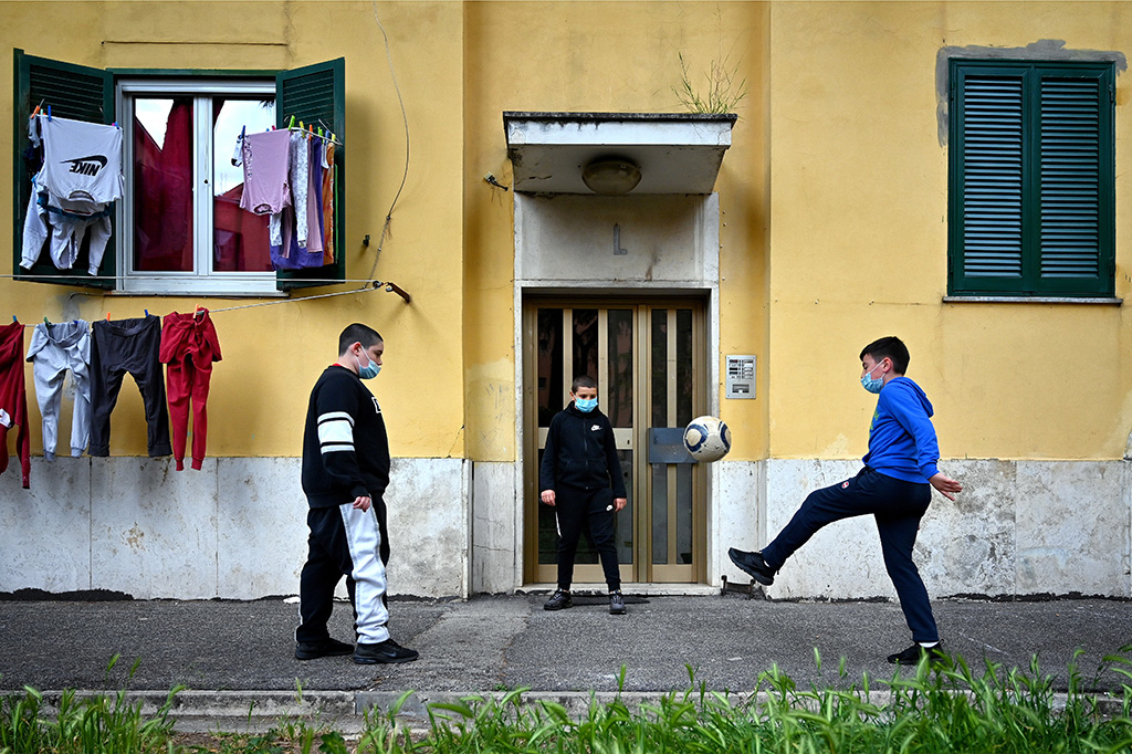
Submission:
[[[771,9],[770,454],[854,457],[890,334],[945,457],[1118,459],[1132,430],[1127,306],[943,303],[941,48],[1132,50],[1126,2],[775,2]],[[1132,119],[1117,79],[1116,295],[1129,299]],[[1122,198],[1123,197],[1123,198]]]

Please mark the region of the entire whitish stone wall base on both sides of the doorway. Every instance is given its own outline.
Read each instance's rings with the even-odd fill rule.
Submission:
[[[472,468],[474,465],[474,473]],[[813,489],[857,461],[720,462],[710,470],[707,575],[746,583],[729,547],[757,549]],[[947,461],[966,490],[934,495],[915,557],[932,597],[1132,598],[1132,463]],[[306,557],[298,459],[34,459],[32,488],[0,474],[0,592],[104,590],[139,599],[294,594]],[[514,463],[395,459],[386,496],[391,593],[523,586]],[[344,589],[342,590],[344,594]],[[775,599],[893,599],[869,517],[820,531],[779,574]]]

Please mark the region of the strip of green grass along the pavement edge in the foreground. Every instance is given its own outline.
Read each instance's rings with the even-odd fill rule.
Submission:
[[[816,651],[814,657],[821,667]],[[1079,671],[1078,659],[1061,694],[1037,658],[1026,669],[984,662],[976,670],[957,657],[856,683],[848,683],[842,660],[838,688],[800,688],[772,667],[754,689],[713,692],[689,669],[686,691],[640,708],[618,694],[612,702],[591,701],[575,718],[560,704],[528,702],[526,689],[514,689],[431,704],[427,726],[417,730],[398,714],[406,693],[391,710],[367,713],[353,742],[284,719],[266,734],[216,734],[204,745],[183,745],[169,719],[178,688],[153,719],[144,719],[126,692],[83,700],[68,692],[52,716],[40,692],[25,688],[0,700],[0,754],[1132,753],[1132,644],[1106,657],[1091,678]],[[1114,691],[1092,693],[1098,687]]]

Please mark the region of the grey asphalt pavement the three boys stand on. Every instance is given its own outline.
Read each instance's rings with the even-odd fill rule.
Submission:
[[[811,684],[860,687],[891,679],[885,657],[910,636],[892,602],[779,602],[738,593],[627,594],[612,616],[600,596],[546,611],[546,594],[468,601],[391,600],[393,637],[415,662],[358,666],[350,657],[293,657],[298,605],[234,601],[0,600],[0,693],[119,691],[160,703],[174,686],[182,728],[278,714],[358,719],[403,692],[419,714],[430,701],[528,688],[574,709],[620,692],[646,701],[689,687],[749,694],[772,666]],[[1036,656],[1056,689],[1075,663],[1084,685],[1120,691],[1127,677],[1105,658],[1132,659],[1132,602],[937,600],[945,649],[980,672],[985,661],[1029,671]],[[348,640],[352,616],[337,603],[332,634]],[[817,657],[821,661],[818,662]],[[113,658],[118,658],[117,661]],[[233,729],[241,726],[228,726]]]

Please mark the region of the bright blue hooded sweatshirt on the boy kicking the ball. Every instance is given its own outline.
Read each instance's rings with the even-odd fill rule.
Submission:
[[[927,482],[940,472],[933,413],[919,385],[907,377],[890,379],[876,401],[865,465],[886,477]]]

